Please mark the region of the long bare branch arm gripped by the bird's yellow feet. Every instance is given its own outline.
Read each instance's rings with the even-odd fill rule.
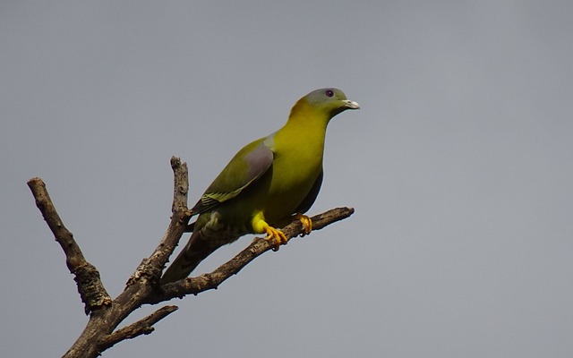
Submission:
[[[320,230],[339,220],[350,217],[355,212],[352,208],[330,209],[322,214],[312,217],[312,227],[314,230]],[[303,226],[300,221],[296,220],[282,229],[286,239],[303,233]],[[199,277],[185,278],[174,283],[169,283],[162,287],[163,293],[153,297],[149,303],[159,303],[170,300],[175,297],[182,298],[187,294],[200,294],[201,292],[216,289],[227,278],[237,274],[242,268],[248,265],[252,260],[261,256],[266,251],[275,247],[276,241],[267,241],[264,238],[257,237],[246,249],[239,252],[233,259],[228,260],[216,270],[203,274]]]

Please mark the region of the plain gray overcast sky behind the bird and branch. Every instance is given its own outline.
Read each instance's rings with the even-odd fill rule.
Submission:
[[[330,123],[311,213],[355,216],[104,356],[571,356],[573,3],[371,3],[2,2],[0,356],[60,356],[87,320],[28,179],[116,295],[172,155],[192,204],[327,86],[363,109]]]

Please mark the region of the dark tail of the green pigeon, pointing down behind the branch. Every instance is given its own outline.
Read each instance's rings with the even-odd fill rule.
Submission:
[[[161,277],[161,285],[188,277],[192,270],[215,250],[217,247],[211,247],[209,240],[201,238],[201,230],[194,231],[179,256]]]

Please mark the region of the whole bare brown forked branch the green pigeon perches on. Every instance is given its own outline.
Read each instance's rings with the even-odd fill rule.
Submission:
[[[73,234],[65,228],[64,222],[57,214],[47,193],[46,184],[40,178],[33,178],[28,182],[38,209],[56,237],[57,243],[64,251],[66,265],[75,276],[81,301],[84,303],[86,314],[90,315],[90,320],[88,320],[88,324],[81,332],[80,337],[64,354],[64,357],[97,357],[111,346],[125,339],[150,334],[154,329],[153,325],[176,311],[177,306],[162,307],[142,320],[124,328],[117,329],[117,327],[143,304],[162,303],[175,297],[200,294],[217,288],[252,260],[275,247],[274,240],[267,241],[263,238],[255,238],[244,251],[239,252],[235,258],[216,270],[199,277],[186,278],[165,286],[159,286],[161,272],[181,236],[188,229],[188,221],[192,216],[192,212],[187,209],[187,192],[189,190],[187,165],[182,163],[179,158],[174,157],[171,158],[171,167],[174,172],[173,215],[167,231],[150,257],[143,259],[138,268],[135,269],[127,281],[124,292],[114,300],[107,294],[97,268],[84,258],[80,246],[73,239]],[[313,230],[319,230],[324,226],[349,217],[353,213],[354,209],[338,208],[312,217]],[[303,233],[303,226],[296,220],[284,227],[283,232],[286,238],[290,240]]]

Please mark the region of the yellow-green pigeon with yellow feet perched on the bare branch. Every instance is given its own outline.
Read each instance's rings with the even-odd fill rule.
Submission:
[[[321,189],[327,124],[347,109],[360,109],[342,90],[313,90],[290,110],[277,132],[244,146],[192,207],[198,216],[184,249],[169,265],[161,285],[188,277],[202,260],[244,234],[267,234],[286,243],[280,227],[301,221],[304,234],[312,220],[304,213]]]

